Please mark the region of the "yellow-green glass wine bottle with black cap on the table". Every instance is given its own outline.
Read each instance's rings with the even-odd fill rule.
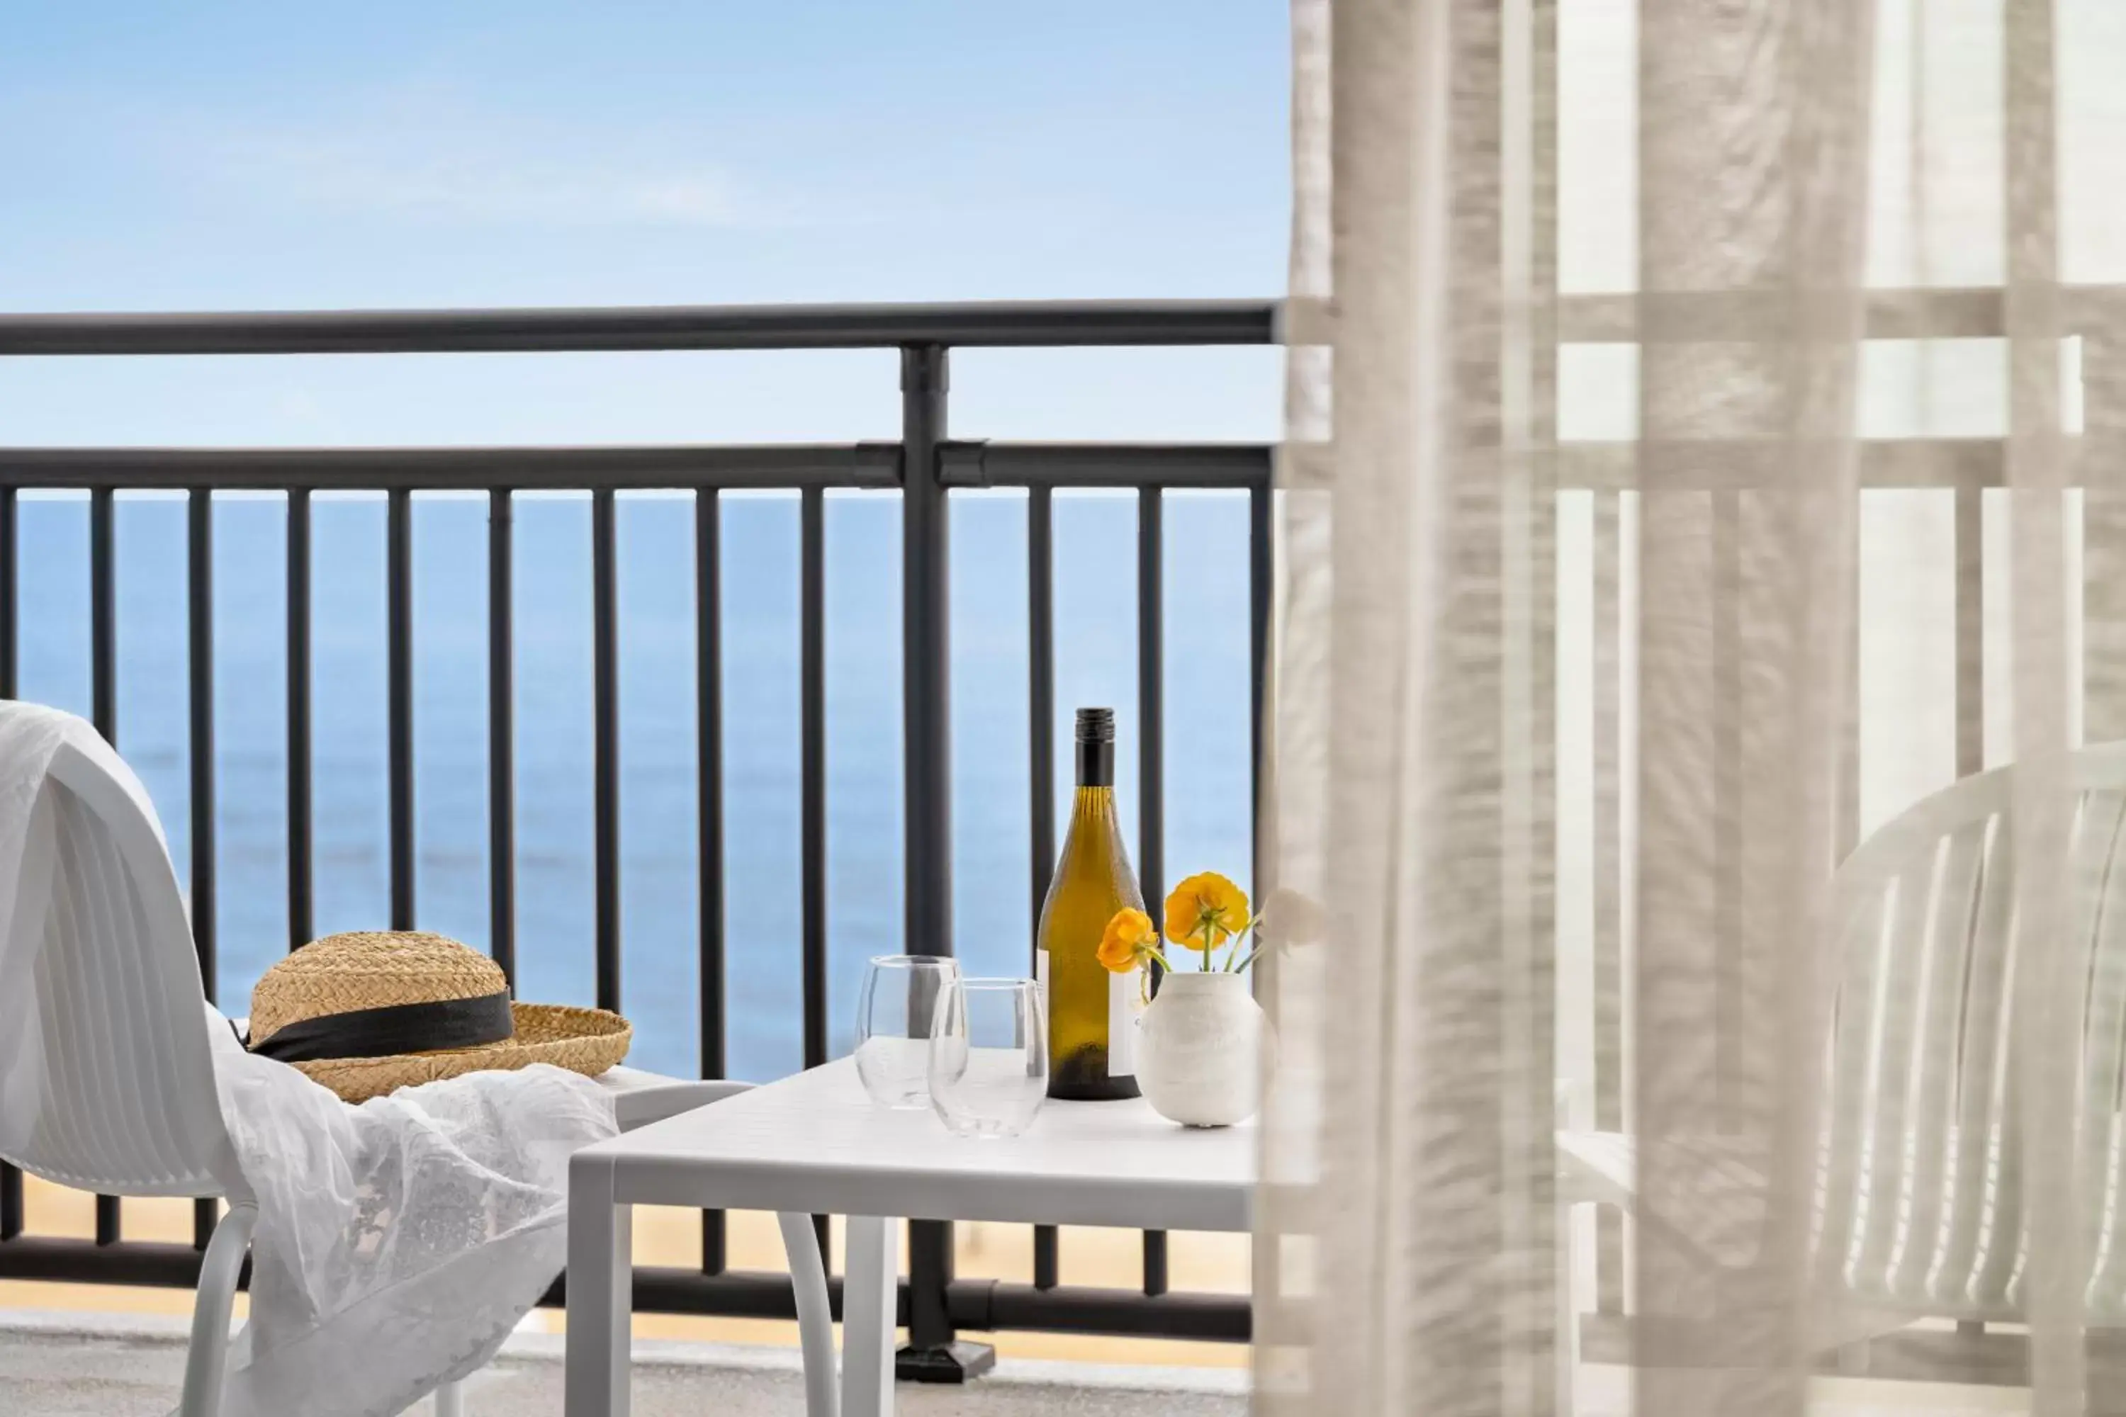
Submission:
[[[1144,909],[1144,897],[1114,820],[1114,710],[1078,710],[1078,795],[1035,937],[1048,1003],[1048,1096],[1137,1096],[1144,967],[1118,975],[1099,962],[1099,937],[1123,907]]]

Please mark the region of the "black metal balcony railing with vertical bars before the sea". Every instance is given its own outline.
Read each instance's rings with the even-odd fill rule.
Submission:
[[[310,493],[387,495],[389,899],[393,928],[412,928],[412,493],[485,491],[489,499],[489,911],[491,950],[514,984],[514,710],[512,493],[591,495],[593,803],[597,1003],[621,1003],[619,656],[614,493],[695,495],[695,625],[699,733],[699,1069],[725,1071],[723,671],[719,603],[727,489],[797,491],[802,969],[804,1062],[827,1060],[827,754],[825,754],[825,493],[901,493],[901,699],[906,773],[908,939],[950,950],[948,497],[957,486],[1027,489],[1029,756],[1033,909],[1054,860],[1052,491],[1137,491],[1137,695],[1142,722],[1140,841],[1146,882],[1161,880],[1163,625],[1161,506],[1167,489],[1237,489],[1250,497],[1252,758],[1261,761],[1263,663],[1269,633],[1269,463],[1263,444],[1014,444],[946,438],[952,346],[1271,344],[1273,302],[1074,302],[946,306],[708,306],[629,310],[436,310],[272,314],[17,314],[0,317],[0,357],[17,355],[308,355],[446,351],[765,351],[897,348],[901,438],[859,444],[585,446],[585,448],[0,448],[0,697],[15,695],[17,491],[89,491],[91,680],[96,727],[117,741],[113,499],[119,489],[187,491],[187,618],[191,712],[191,911],[200,975],[215,994],[215,720],[213,495],[287,493],[287,841],[289,947],[313,928],[310,822]],[[96,1241],[23,1234],[21,1177],[0,1173],[0,1277],[191,1285],[215,1202],[193,1217],[193,1245],[123,1239],[115,1198],[96,1205]],[[1067,1330],[1169,1338],[1248,1336],[1242,1296],[1169,1294],[1165,1234],[1144,1236],[1137,1292],[1057,1281],[1057,1234],[1037,1228],[1033,1283],[957,1279],[952,1228],[910,1226],[901,1321],[904,1372],[952,1377],[955,1332]],[[549,1294],[559,1302],[559,1287]],[[638,1268],[640,1309],[793,1317],[789,1281],[725,1266],[725,1226],[704,1215],[697,1268]]]

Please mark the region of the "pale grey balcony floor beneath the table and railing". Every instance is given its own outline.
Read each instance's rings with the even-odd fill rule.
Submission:
[[[164,1315],[0,1313],[0,1413],[166,1417],[185,1368],[185,1324]],[[1246,1372],[1003,1360],[969,1387],[904,1383],[908,1417],[1239,1417]],[[415,1409],[425,1413],[427,1404]],[[561,1338],[525,1332],[466,1389],[470,1417],[559,1417]],[[638,1417],[789,1417],[804,1411],[789,1349],[636,1343]]]

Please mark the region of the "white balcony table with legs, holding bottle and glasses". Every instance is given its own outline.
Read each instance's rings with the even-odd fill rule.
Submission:
[[[1248,1230],[1254,1128],[1180,1128],[1144,1100],[1048,1103],[1023,1137],[952,1137],[872,1103],[838,1060],[585,1147],[568,1196],[568,1417],[625,1417],[629,1215],[678,1205],[791,1215],[799,1315],[827,1290],[804,1215],[846,1215],[842,1417],[893,1411],[899,1219]],[[810,1273],[806,1273],[810,1268]],[[806,1343],[812,1417],[836,1411],[825,1324]]]

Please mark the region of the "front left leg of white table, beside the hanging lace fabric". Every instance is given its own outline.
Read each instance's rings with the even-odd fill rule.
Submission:
[[[612,1162],[568,1168],[568,1417],[627,1417],[634,1207],[612,1200]]]

